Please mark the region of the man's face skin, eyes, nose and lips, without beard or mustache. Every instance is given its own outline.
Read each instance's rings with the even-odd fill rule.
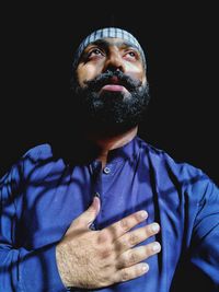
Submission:
[[[120,38],[105,38],[89,45],[83,51],[77,69],[78,81],[81,87],[108,69],[119,69],[132,79],[146,82],[142,59],[138,49]],[[114,82],[112,82],[114,83]],[[102,91],[116,91],[116,87],[105,87]],[[127,93],[126,87],[117,89]],[[101,92],[100,92],[101,93]]]

